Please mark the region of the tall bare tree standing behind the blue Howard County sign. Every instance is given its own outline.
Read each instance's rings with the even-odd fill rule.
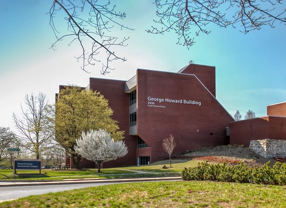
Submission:
[[[13,121],[18,132],[17,143],[40,158],[40,153],[49,149],[54,142],[54,133],[51,131],[49,117],[46,107],[47,99],[44,94],[38,96],[28,94],[25,97],[25,106],[22,109],[22,116],[19,118],[13,113]]]

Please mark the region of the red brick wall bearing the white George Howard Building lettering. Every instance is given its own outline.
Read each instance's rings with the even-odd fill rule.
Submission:
[[[203,73],[200,76],[207,80]],[[201,106],[154,101],[165,108],[148,107],[149,96],[196,100]],[[231,121],[233,118],[194,75],[137,70],[137,131],[150,146],[151,163],[168,157],[162,141],[170,134],[177,143],[177,155],[198,147],[227,144],[226,127]]]

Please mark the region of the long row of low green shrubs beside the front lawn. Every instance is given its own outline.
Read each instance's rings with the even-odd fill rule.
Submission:
[[[249,168],[243,162],[237,165],[198,163],[196,167],[184,168],[183,180],[215,180],[236,183],[265,185],[286,185],[286,164],[276,162],[273,168],[270,162],[260,168]]]

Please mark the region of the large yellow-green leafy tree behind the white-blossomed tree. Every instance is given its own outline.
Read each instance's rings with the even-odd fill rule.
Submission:
[[[124,132],[119,131],[112,115],[108,100],[99,92],[76,86],[67,86],[60,91],[56,101],[56,141],[70,154],[76,168],[79,168],[79,163],[83,160],[75,151],[76,139],[82,137],[82,132],[101,128],[110,132],[115,141],[124,138]]]

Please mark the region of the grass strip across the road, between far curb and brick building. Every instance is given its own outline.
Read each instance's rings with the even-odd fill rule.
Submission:
[[[122,178],[122,177],[147,177],[154,176],[153,173],[157,173],[156,176],[165,175],[180,175],[180,172],[184,167],[194,167],[198,164],[198,161],[190,160],[173,160],[172,168],[170,167],[169,160],[159,161],[150,165],[120,167],[120,168],[103,168],[101,173],[98,173],[97,169],[85,169],[85,170],[41,170],[28,171],[17,170],[17,174],[14,174],[14,179],[17,180],[62,180],[68,178]],[[162,166],[166,165],[168,169],[162,169]],[[130,170],[144,171],[149,173],[137,174]],[[0,170],[0,179],[12,179],[12,170]]]

